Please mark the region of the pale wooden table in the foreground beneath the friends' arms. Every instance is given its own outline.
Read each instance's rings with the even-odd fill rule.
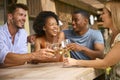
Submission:
[[[39,63],[1,68],[0,80],[93,80],[102,73],[94,68],[63,68],[62,63]]]

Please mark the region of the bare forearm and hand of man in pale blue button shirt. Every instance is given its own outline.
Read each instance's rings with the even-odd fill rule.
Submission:
[[[28,54],[8,53],[5,57],[4,64],[0,65],[0,67],[22,65],[25,62],[31,60],[44,60],[46,58],[53,57],[53,52],[54,51],[51,49],[41,49],[37,52],[32,52]]]

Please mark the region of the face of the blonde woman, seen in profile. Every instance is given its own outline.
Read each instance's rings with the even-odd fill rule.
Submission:
[[[111,28],[111,26],[113,26],[111,13],[108,11],[108,9],[106,8],[103,9],[101,18],[102,18],[104,27]]]

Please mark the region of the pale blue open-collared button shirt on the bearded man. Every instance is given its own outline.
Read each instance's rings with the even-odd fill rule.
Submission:
[[[4,63],[9,52],[16,54],[27,53],[27,33],[24,29],[19,29],[15,35],[14,44],[12,44],[12,37],[6,23],[0,26],[0,63]]]

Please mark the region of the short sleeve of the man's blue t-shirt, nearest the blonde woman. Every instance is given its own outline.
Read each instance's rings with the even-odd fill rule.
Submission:
[[[94,42],[95,43],[102,43],[104,44],[104,38],[102,33],[99,30],[96,30],[95,33],[93,33],[93,37],[94,37]]]

